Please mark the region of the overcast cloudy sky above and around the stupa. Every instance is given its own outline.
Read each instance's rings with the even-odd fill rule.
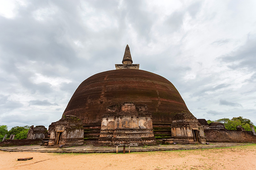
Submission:
[[[256,1],[0,0],[0,125],[58,121],[78,85],[133,63],[197,118],[256,124]]]

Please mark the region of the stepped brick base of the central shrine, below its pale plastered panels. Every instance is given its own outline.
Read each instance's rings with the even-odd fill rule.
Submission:
[[[98,144],[153,145],[156,138],[152,129],[101,130]]]

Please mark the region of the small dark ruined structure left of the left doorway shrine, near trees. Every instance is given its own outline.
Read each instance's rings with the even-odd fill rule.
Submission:
[[[28,130],[27,139],[44,139],[47,136],[48,132],[44,126],[39,125],[34,127],[32,125]]]

